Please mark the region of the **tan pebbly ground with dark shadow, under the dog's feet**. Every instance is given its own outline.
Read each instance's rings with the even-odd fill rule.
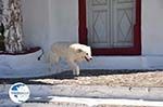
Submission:
[[[35,79],[0,79],[0,83],[27,84],[68,84],[68,85],[109,85],[109,86],[163,86],[162,70],[83,70],[79,77],[72,71]]]

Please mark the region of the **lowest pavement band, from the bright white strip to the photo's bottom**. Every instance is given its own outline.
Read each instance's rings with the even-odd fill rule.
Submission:
[[[163,102],[117,98],[86,98],[68,96],[33,97],[27,103],[3,101],[0,107],[163,107]],[[112,106],[111,106],[112,105]]]

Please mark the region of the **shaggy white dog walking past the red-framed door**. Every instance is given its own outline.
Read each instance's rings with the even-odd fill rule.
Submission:
[[[71,69],[73,75],[79,75],[79,66],[77,63],[82,61],[91,61],[91,49],[85,44],[70,43],[70,42],[57,42],[51,45],[51,51],[49,54],[50,65],[58,64],[60,58],[64,58]]]

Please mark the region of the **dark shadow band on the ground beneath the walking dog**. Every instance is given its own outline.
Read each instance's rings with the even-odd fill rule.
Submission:
[[[63,71],[57,75],[51,75],[51,76],[45,76],[45,77],[37,77],[37,78],[20,78],[20,79],[0,79],[0,84],[5,84],[5,83],[15,83],[15,82],[24,82],[27,84],[51,84],[51,83],[46,83],[41,81],[32,81],[32,80],[37,80],[37,79],[57,79],[57,80],[74,80],[77,79],[78,77],[99,77],[99,76],[110,76],[110,75],[129,75],[129,73],[138,73],[138,72],[150,72],[150,71],[163,71],[163,70],[80,70],[79,76],[74,76],[73,71]]]

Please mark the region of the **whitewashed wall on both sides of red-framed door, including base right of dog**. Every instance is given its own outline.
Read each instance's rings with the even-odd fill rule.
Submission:
[[[98,56],[83,68],[163,68],[163,0],[141,1],[142,55]],[[24,0],[23,13],[28,44],[46,50],[55,41],[78,41],[78,0]]]

